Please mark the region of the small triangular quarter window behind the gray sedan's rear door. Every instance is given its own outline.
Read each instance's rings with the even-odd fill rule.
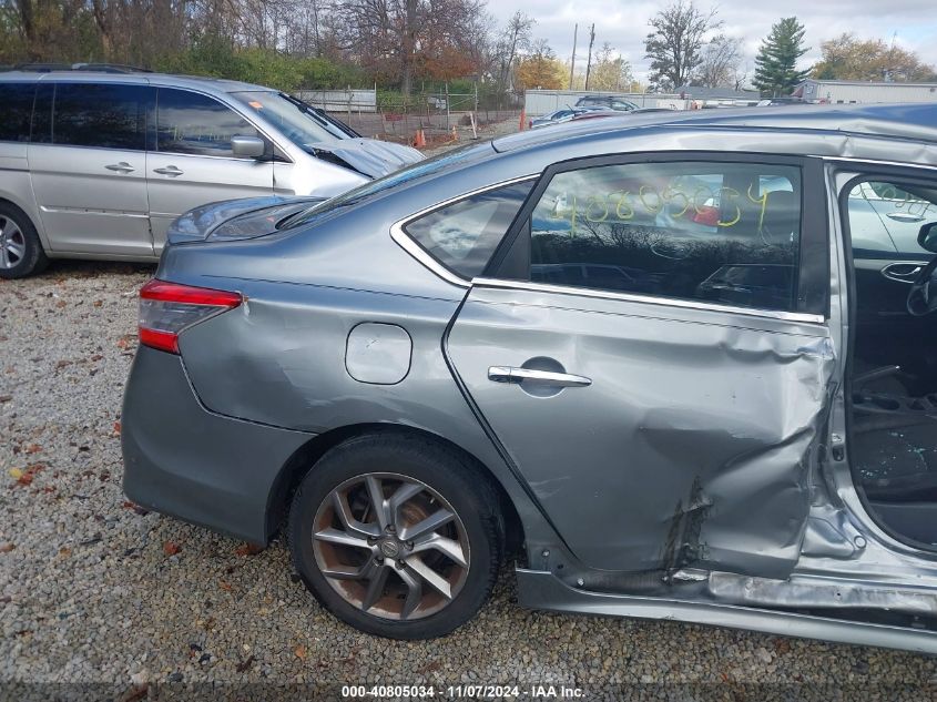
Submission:
[[[404,226],[429,255],[465,278],[480,275],[527,199],[533,181],[477,193]]]

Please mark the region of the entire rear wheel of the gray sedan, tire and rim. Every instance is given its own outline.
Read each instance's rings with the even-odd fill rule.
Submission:
[[[288,539],[306,587],[339,619],[430,639],[470,619],[501,562],[498,496],[459,454],[376,434],[329,450],[293,498]]]

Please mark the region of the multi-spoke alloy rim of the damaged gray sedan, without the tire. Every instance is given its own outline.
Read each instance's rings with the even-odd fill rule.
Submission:
[[[470,567],[465,526],[425,482],[397,474],[346,480],[323,500],[313,551],[332,588],[357,609],[411,621],[445,609]]]

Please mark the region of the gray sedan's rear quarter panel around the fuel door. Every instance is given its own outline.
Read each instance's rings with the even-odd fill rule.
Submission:
[[[390,238],[398,218],[391,212],[399,211],[367,210],[296,236],[166,250],[157,277],[246,298],[182,334],[192,387],[211,411],[268,426],[320,435],[381,424],[442,437],[492,471],[529,543],[556,543],[446,363],[442,336],[466,289],[436,277]],[[375,231],[380,235],[361,234]],[[349,374],[348,334],[366,322],[398,325],[413,340],[399,383],[361,383]]]

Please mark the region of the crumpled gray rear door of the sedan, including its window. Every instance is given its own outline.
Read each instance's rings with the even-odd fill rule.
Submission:
[[[809,159],[547,170],[446,348],[583,563],[791,572],[837,373],[826,212]]]

